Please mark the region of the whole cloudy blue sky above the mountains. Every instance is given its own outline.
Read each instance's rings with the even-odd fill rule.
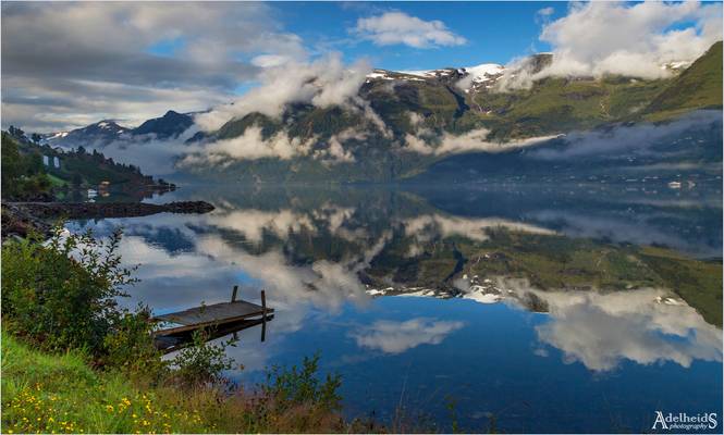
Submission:
[[[722,39],[721,16],[721,3],[696,2],[3,1],[2,127],[134,126],[246,96],[268,103],[254,90],[275,92],[295,72],[329,69],[338,86],[359,82],[347,70],[508,64],[540,51],[555,52],[556,74],[649,77],[656,62],[692,60]]]

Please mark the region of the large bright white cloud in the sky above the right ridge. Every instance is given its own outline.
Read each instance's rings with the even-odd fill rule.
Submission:
[[[721,3],[574,2],[566,16],[548,21],[550,15],[541,10],[536,17],[543,23],[540,40],[553,48],[551,65],[532,69],[514,59],[498,90],[528,88],[550,76],[667,77],[664,65],[692,62],[722,39]]]

